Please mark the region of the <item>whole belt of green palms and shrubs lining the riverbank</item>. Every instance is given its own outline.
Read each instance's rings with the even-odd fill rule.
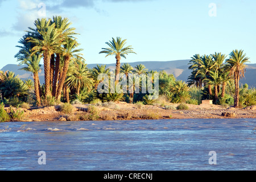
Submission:
[[[75,37],[75,28],[71,22],[61,16],[52,19],[37,19],[34,28],[29,27],[26,35],[19,40],[19,52],[15,57],[25,71],[31,72],[34,82],[22,81],[12,72],[0,72],[1,99],[5,104],[17,105],[28,102],[37,106],[51,105],[53,102],[95,103],[108,101],[126,101],[130,103],[143,102],[154,104],[148,98],[149,93],[108,93],[99,94],[97,86],[102,80],[98,75],[110,75],[111,70],[106,65],[97,65],[88,69],[80,53],[80,44]],[[156,71],[148,71],[140,64],[131,67],[130,64],[121,66],[121,57],[135,53],[131,46],[126,46],[126,40],[121,38],[106,42],[108,47],[100,53],[115,56],[115,76],[129,73],[138,75]],[[164,71],[159,72],[159,94],[167,103],[200,104],[203,99],[213,99],[215,104],[234,105],[236,107],[256,104],[256,91],[246,85],[240,88],[239,81],[246,71],[245,63],[249,60],[243,51],[234,50],[229,58],[221,53],[212,55],[194,55],[189,62],[192,70],[188,84],[176,80],[173,75]],[[40,61],[43,60],[44,84],[40,84]],[[132,78],[131,78],[132,79]],[[139,82],[141,80],[133,80]],[[118,84],[115,82],[115,84]],[[130,88],[127,88],[130,89]]]

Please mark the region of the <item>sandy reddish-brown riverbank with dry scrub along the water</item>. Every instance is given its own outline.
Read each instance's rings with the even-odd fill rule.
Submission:
[[[174,109],[178,104],[172,104]],[[189,105],[188,110],[171,110],[170,108],[152,105],[127,104],[117,102],[105,106],[93,106],[94,111],[88,111],[91,105],[73,105],[69,114],[60,111],[60,105],[44,108],[22,109],[22,119],[19,121],[109,121],[109,120],[139,120],[139,119],[189,119],[189,118],[256,118],[256,106],[236,109],[220,105]],[[6,108],[8,110],[9,108]],[[12,121],[17,121],[13,119]]]

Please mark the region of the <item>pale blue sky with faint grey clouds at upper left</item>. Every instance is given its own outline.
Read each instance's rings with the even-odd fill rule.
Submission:
[[[18,64],[19,39],[37,18],[61,15],[76,28],[86,64],[115,63],[99,54],[121,37],[137,54],[121,62],[172,61],[243,49],[256,63],[255,0],[0,0],[0,69]]]

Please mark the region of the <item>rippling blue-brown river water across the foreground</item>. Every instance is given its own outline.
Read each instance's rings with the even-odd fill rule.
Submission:
[[[0,170],[255,170],[255,127],[256,119],[0,123]]]

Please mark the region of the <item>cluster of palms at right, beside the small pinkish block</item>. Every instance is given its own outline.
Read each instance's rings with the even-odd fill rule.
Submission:
[[[239,81],[244,77],[246,71],[245,63],[249,61],[242,50],[233,50],[226,59],[226,55],[215,52],[212,55],[199,54],[191,57],[189,69],[192,69],[188,77],[188,85],[196,85],[198,88],[207,86],[208,96],[214,95],[214,100],[218,100],[221,89],[221,98],[225,96],[226,85],[229,81],[234,81],[235,97],[234,106],[239,106]],[[212,92],[213,89],[213,92]]]

